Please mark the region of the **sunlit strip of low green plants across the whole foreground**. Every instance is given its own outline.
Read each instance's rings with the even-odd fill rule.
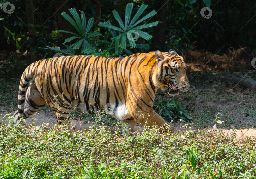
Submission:
[[[100,125],[46,130],[1,120],[0,178],[255,178],[255,141],[211,133],[154,128],[123,137]]]

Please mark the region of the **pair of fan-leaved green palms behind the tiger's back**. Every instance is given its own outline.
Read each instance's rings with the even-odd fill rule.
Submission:
[[[106,27],[108,32],[105,33],[104,39],[99,39],[97,37],[102,36],[99,32],[92,32],[89,34],[93,27],[94,18],[90,18],[88,20],[88,23],[86,25],[86,19],[84,12],[81,11],[81,19],[76,11],[75,8],[69,9],[70,13],[73,15],[73,20],[68,14],[65,12],[61,15],[70,22],[72,26],[76,29],[78,34],[75,34],[73,32],[64,31],[64,30],[58,30],[59,32],[64,33],[70,33],[72,36],[70,38],[65,39],[65,42],[70,42],[72,40],[77,40],[77,42],[74,44],[73,49],[76,49],[75,53],[73,51],[64,51],[57,47],[49,47],[48,49],[53,50],[53,52],[59,52],[64,53],[66,55],[100,55],[100,56],[106,56],[106,57],[114,57],[117,55],[122,55],[123,50],[126,54],[131,55],[133,54],[130,50],[126,49],[127,47],[131,48],[144,48],[148,49],[149,44],[136,44],[135,41],[137,41],[137,38],[142,37],[145,40],[149,40],[152,38],[151,35],[149,35],[147,32],[141,31],[141,29],[144,28],[150,28],[153,26],[156,26],[158,24],[158,21],[148,23],[148,24],[142,24],[144,20],[154,16],[156,14],[155,10],[152,10],[149,14],[142,17],[140,20],[138,18],[142,15],[142,13],[147,8],[147,5],[142,4],[134,17],[131,19],[132,16],[132,9],[133,9],[133,3],[129,3],[126,6],[125,10],[125,22],[121,20],[120,15],[117,13],[117,11],[113,11],[113,16],[117,20],[119,27],[113,26],[111,22],[105,22],[99,23],[99,26]],[[131,21],[130,21],[131,20]],[[118,31],[119,34],[115,31]],[[110,35],[112,37],[110,37]],[[135,37],[133,37],[133,34],[135,34]],[[110,40],[110,42],[108,41]],[[95,41],[95,43],[93,42]],[[120,44],[120,43],[121,44]],[[105,43],[107,45],[103,45],[103,49],[100,48],[100,43]],[[129,44],[127,44],[129,43]],[[93,47],[92,47],[93,45]],[[114,46],[114,47],[113,47]],[[120,47],[119,47],[120,46]],[[45,49],[45,48],[44,48]],[[112,52],[114,50],[114,53]],[[126,54],[123,54],[125,56]]]

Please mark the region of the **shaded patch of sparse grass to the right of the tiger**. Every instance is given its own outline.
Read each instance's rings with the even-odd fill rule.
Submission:
[[[255,72],[248,74],[252,78],[256,76]],[[190,89],[172,100],[177,100],[192,115],[197,127],[212,127],[209,119],[217,113],[222,113],[227,128],[231,124],[236,128],[256,126],[256,94],[233,83],[230,80],[233,73],[192,72],[187,75]],[[225,91],[229,89],[233,89],[234,94]]]

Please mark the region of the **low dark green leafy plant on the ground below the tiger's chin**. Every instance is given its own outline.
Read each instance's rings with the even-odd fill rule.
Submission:
[[[184,119],[186,121],[191,121],[193,118],[184,111],[177,101],[155,101],[154,109],[160,116],[168,120]]]

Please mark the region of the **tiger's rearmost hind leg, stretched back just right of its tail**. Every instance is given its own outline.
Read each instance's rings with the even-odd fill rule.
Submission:
[[[24,116],[23,118],[28,118],[38,111],[41,107],[46,105],[46,101],[43,99],[42,95],[38,91],[35,85],[29,86],[25,95],[24,104]],[[17,123],[18,115],[15,117],[15,122]]]

